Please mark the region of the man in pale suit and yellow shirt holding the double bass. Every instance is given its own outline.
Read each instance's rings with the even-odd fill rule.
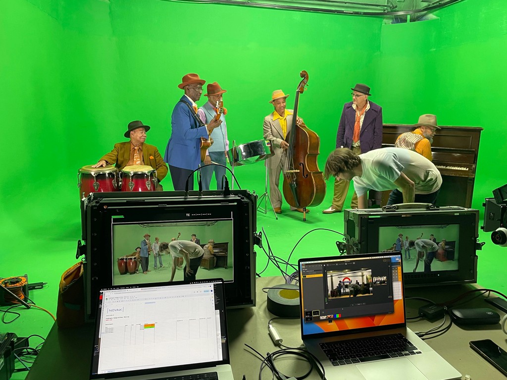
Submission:
[[[282,90],[275,90],[271,95],[269,101],[273,104],[275,110],[264,118],[264,138],[271,140],[274,155],[266,160],[268,167],[269,177],[269,198],[273,205],[274,211],[277,214],[282,213],[282,195],[278,188],[280,183],[280,173],[287,159],[288,143],[285,138],[291,132],[291,125],[293,122],[294,111],[292,109],[285,109],[285,95]],[[302,121],[298,117],[298,122]],[[291,206],[291,210],[303,212],[302,208],[295,208]],[[306,210],[309,212],[309,210]]]

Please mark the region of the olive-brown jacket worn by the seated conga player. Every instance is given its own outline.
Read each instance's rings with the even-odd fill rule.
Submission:
[[[143,143],[142,159],[144,165],[149,165],[157,171],[159,181],[165,178],[168,171],[167,164],[162,159],[162,156],[160,156],[156,146]],[[104,160],[110,165],[115,165],[121,171],[130,160],[130,141],[115,144],[113,150],[104,155],[100,160]]]

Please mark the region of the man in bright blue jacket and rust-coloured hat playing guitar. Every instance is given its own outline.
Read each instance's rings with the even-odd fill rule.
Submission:
[[[200,79],[199,75],[190,73],[185,75],[182,83],[178,85],[178,88],[185,90],[185,95],[172,110],[171,137],[164,155],[175,190],[185,190],[188,176],[201,163],[201,137],[209,138],[211,131],[222,123],[222,120],[212,120],[205,125],[197,117],[195,102],[201,98],[204,83],[206,81]],[[194,188],[193,176],[189,179],[188,188]]]

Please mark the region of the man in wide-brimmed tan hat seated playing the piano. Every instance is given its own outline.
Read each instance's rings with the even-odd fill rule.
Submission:
[[[431,144],[437,129],[437,117],[426,113],[419,117],[419,122],[414,124],[415,130],[413,132],[402,133],[396,139],[394,146],[397,148],[404,148],[416,151],[420,155],[432,161]]]

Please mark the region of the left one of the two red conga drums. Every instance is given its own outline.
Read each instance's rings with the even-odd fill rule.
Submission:
[[[107,165],[92,168],[92,165],[83,166],[78,171],[79,197],[83,193],[87,197],[90,193],[116,192],[119,190],[118,170]]]

